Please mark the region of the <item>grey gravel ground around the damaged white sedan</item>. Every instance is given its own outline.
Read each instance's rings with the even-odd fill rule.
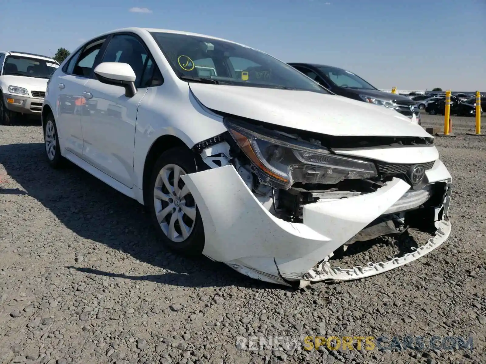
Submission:
[[[453,128],[437,138],[453,177],[449,240],[376,277],[295,291],[171,254],[136,201],[76,166],[50,169],[39,125],[0,126],[0,362],[486,363],[486,138],[465,135],[473,118]],[[472,336],[473,350],[237,343],[302,335],[386,336],[383,347]]]

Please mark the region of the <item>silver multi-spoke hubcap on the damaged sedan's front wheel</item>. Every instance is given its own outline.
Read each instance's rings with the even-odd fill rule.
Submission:
[[[196,202],[180,178],[186,172],[178,165],[166,165],[158,173],[154,206],[158,224],[174,242],[186,240],[194,229]]]

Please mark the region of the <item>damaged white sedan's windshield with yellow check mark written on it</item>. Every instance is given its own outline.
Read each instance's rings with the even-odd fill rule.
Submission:
[[[295,68],[259,50],[196,35],[152,36],[184,81],[327,93]]]

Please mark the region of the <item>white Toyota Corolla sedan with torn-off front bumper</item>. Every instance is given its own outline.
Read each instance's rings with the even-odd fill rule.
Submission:
[[[372,276],[451,232],[451,175],[432,135],[224,39],[140,28],[93,38],[53,73],[42,127],[52,167],[68,159],[138,200],[167,247],[262,281]],[[390,261],[330,260],[407,229],[430,235]]]

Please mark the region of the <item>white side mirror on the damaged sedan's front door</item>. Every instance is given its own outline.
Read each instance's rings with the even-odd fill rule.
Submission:
[[[127,98],[137,94],[137,76],[128,63],[103,62],[95,67],[94,74],[101,83],[124,87]]]

